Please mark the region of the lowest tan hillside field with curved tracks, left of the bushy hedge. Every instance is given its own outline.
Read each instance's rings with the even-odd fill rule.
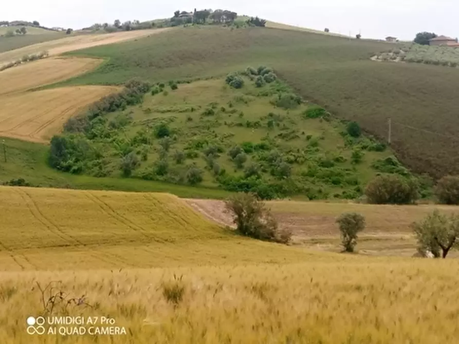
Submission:
[[[29,80],[30,86],[35,80]],[[0,136],[49,142],[67,119],[116,90],[112,86],[74,86],[0,95]]]

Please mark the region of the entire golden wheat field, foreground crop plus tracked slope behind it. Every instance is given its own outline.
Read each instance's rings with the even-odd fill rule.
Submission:
[[[0,187],[0,214],[2,343],[459,342],[456,259],[242,238],[167,194]]]

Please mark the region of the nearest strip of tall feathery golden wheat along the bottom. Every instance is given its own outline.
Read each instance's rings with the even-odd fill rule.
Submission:
[[[454,260],[318,255],[289,265],[3,273],[0,280],[1,342],[453,344],[459,337]],[[26,318],[44,309],[35,283],[49,281],[96,304],[53,315],[113,317],[127,334],[28,335]]]

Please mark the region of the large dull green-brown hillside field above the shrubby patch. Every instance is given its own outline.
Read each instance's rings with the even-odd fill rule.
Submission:
[[[109,61],[67,83],[113,84],[132,77],[193,79],[263,63],[274,67],[306,99],[341,118],[358,120],[381,138],[387,137],[391,117],[393,147],[416,171],[435,176],[459,173],[459,162],[450,159],[455,154],[450,137],[459,128],[459,119],[451,116],[459,109],[455,102],[459,70],[370,61],[385,47],[294,30],[178,28],[136,42],[73,52]],[[402,126],[413,124],[419,130]]]

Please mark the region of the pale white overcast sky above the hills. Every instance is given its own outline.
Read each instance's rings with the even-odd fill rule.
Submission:
[[[44,26],[79,29],[115,19],[152,20],[177,9],[230,9],[274,22],[363,37],[397,36],[412,40],[416,32],[459,36],[457,0],[22,0],[4,1],[0,20],[37,20]]]

